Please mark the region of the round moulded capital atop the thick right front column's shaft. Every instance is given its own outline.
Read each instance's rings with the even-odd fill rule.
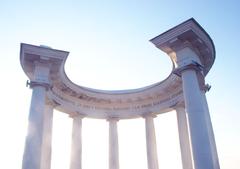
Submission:
[[[182,66],[182,67],[179,67],[179,68],[176,68],[173,73],[179,77],[181,77],[182,75],[182,72],[186,71],[186,70],[195,70],[196,72],[200,72],[203,70],[203,66],[195,61],[192,61],[192,63],[188,64],[188,65],[185,65],[185,66]]]

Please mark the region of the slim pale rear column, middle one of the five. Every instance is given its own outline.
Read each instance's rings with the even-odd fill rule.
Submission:
[[[109,169],[119,169],[117,118],[109,118]]]

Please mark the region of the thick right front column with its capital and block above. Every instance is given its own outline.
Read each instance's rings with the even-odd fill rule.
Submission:
[[[202,74],[200,57],[191,45],[176,52],[178,68],[175,73],[182,77],[185,109],[188,113],[188,122],[192,144],[192,155],[195,169],[214,168],[212,148],[209,140],[209,131],[206,122],[206,105],[202,99],[199,74]]]

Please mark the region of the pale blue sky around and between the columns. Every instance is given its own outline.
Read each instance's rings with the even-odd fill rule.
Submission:
[[[216,60],[207,99],[222,169],[240,168],[240,2],[238,0],[2,0],[0,2],[0,168],[21,168],[31,89],[20,43],[69,51],[76,84],[120,90],[147,86],[171,72],[169,57],[149,40],[193,17],[209,33]],[[159,168],[181,169],[175,112],[154,119]],[[69,168],[72,120],[54,111],[52,169]],[[121,169],[146,169],[143,119],[119,121]],[[108,123],[83,120],[83,168],[108,168]]]

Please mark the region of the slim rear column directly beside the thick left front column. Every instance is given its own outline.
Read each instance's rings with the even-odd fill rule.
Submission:
[[[51,169],[53,106],[46,104],[43,123],[41,169]]]

